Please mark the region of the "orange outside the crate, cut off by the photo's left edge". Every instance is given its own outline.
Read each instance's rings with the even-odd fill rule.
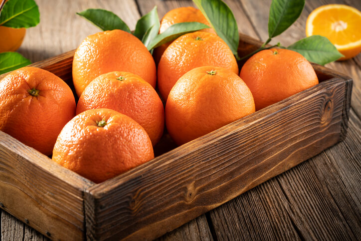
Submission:
[[[25,28],[12,28],[0,26],[0,53],[8,51],[16,51],[24,39]]]

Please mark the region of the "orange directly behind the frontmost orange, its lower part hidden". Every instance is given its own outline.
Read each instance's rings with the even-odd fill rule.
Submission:
[[[123,80],[117,78],[123,77]],[[156,90],[129,72],[110,72],[95,78],[81,94],[76,113],[108,108],[137,121],[155,145],[164,130],[164,107]]]

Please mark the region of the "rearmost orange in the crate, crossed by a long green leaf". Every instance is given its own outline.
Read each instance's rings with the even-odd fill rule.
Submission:
[[[203,13],[199,9],[194,8],[192,6],[185,6],[185,7],[178,7],[172,9],[163,16],[161,20],[161,26],[159,28],[159,33],[160,34],[163,33],[171,25],[180,22],[200,22],[210,26],[209,22],[207,21],[207,19],[204,17]],[[215,33],[213,28],[205,28],[200,31]],[[172,42],[165,43],[159,46],[158,48],[154,49],[153,56],[154,59],[156,60],[156,63],[159,63],[159,60],[161,59],[163,52],[171,43]]]

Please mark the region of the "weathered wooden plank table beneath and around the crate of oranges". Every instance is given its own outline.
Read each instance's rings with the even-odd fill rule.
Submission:
[[[40,24],[27,30],[18,50],[32,62],[75,49],[99,29],[76,15],[86,8],[118,14],[131,29],[154,5],[162,17],[190,0],[36,0]],[[266,40],[271,0],[226,0],[239,31]],[[361,10],[360,0],[306,0],[301,17],[276,37],[289,45],[305,37],[308,14],[327,3]],[[318,156],[272,178],[161,237],[161,240],[360,240],[361,239],[361,54],[326,65],[354,79],[347,138]],[[1,240],[46,240],[0,211]],[[66,232],[64,230],[64,232]]]

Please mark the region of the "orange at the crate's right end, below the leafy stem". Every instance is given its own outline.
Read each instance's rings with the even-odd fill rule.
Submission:
[[[266,49],[250,57],[239,76],[260,110],[319,83],[310,62],[288,49]]]

